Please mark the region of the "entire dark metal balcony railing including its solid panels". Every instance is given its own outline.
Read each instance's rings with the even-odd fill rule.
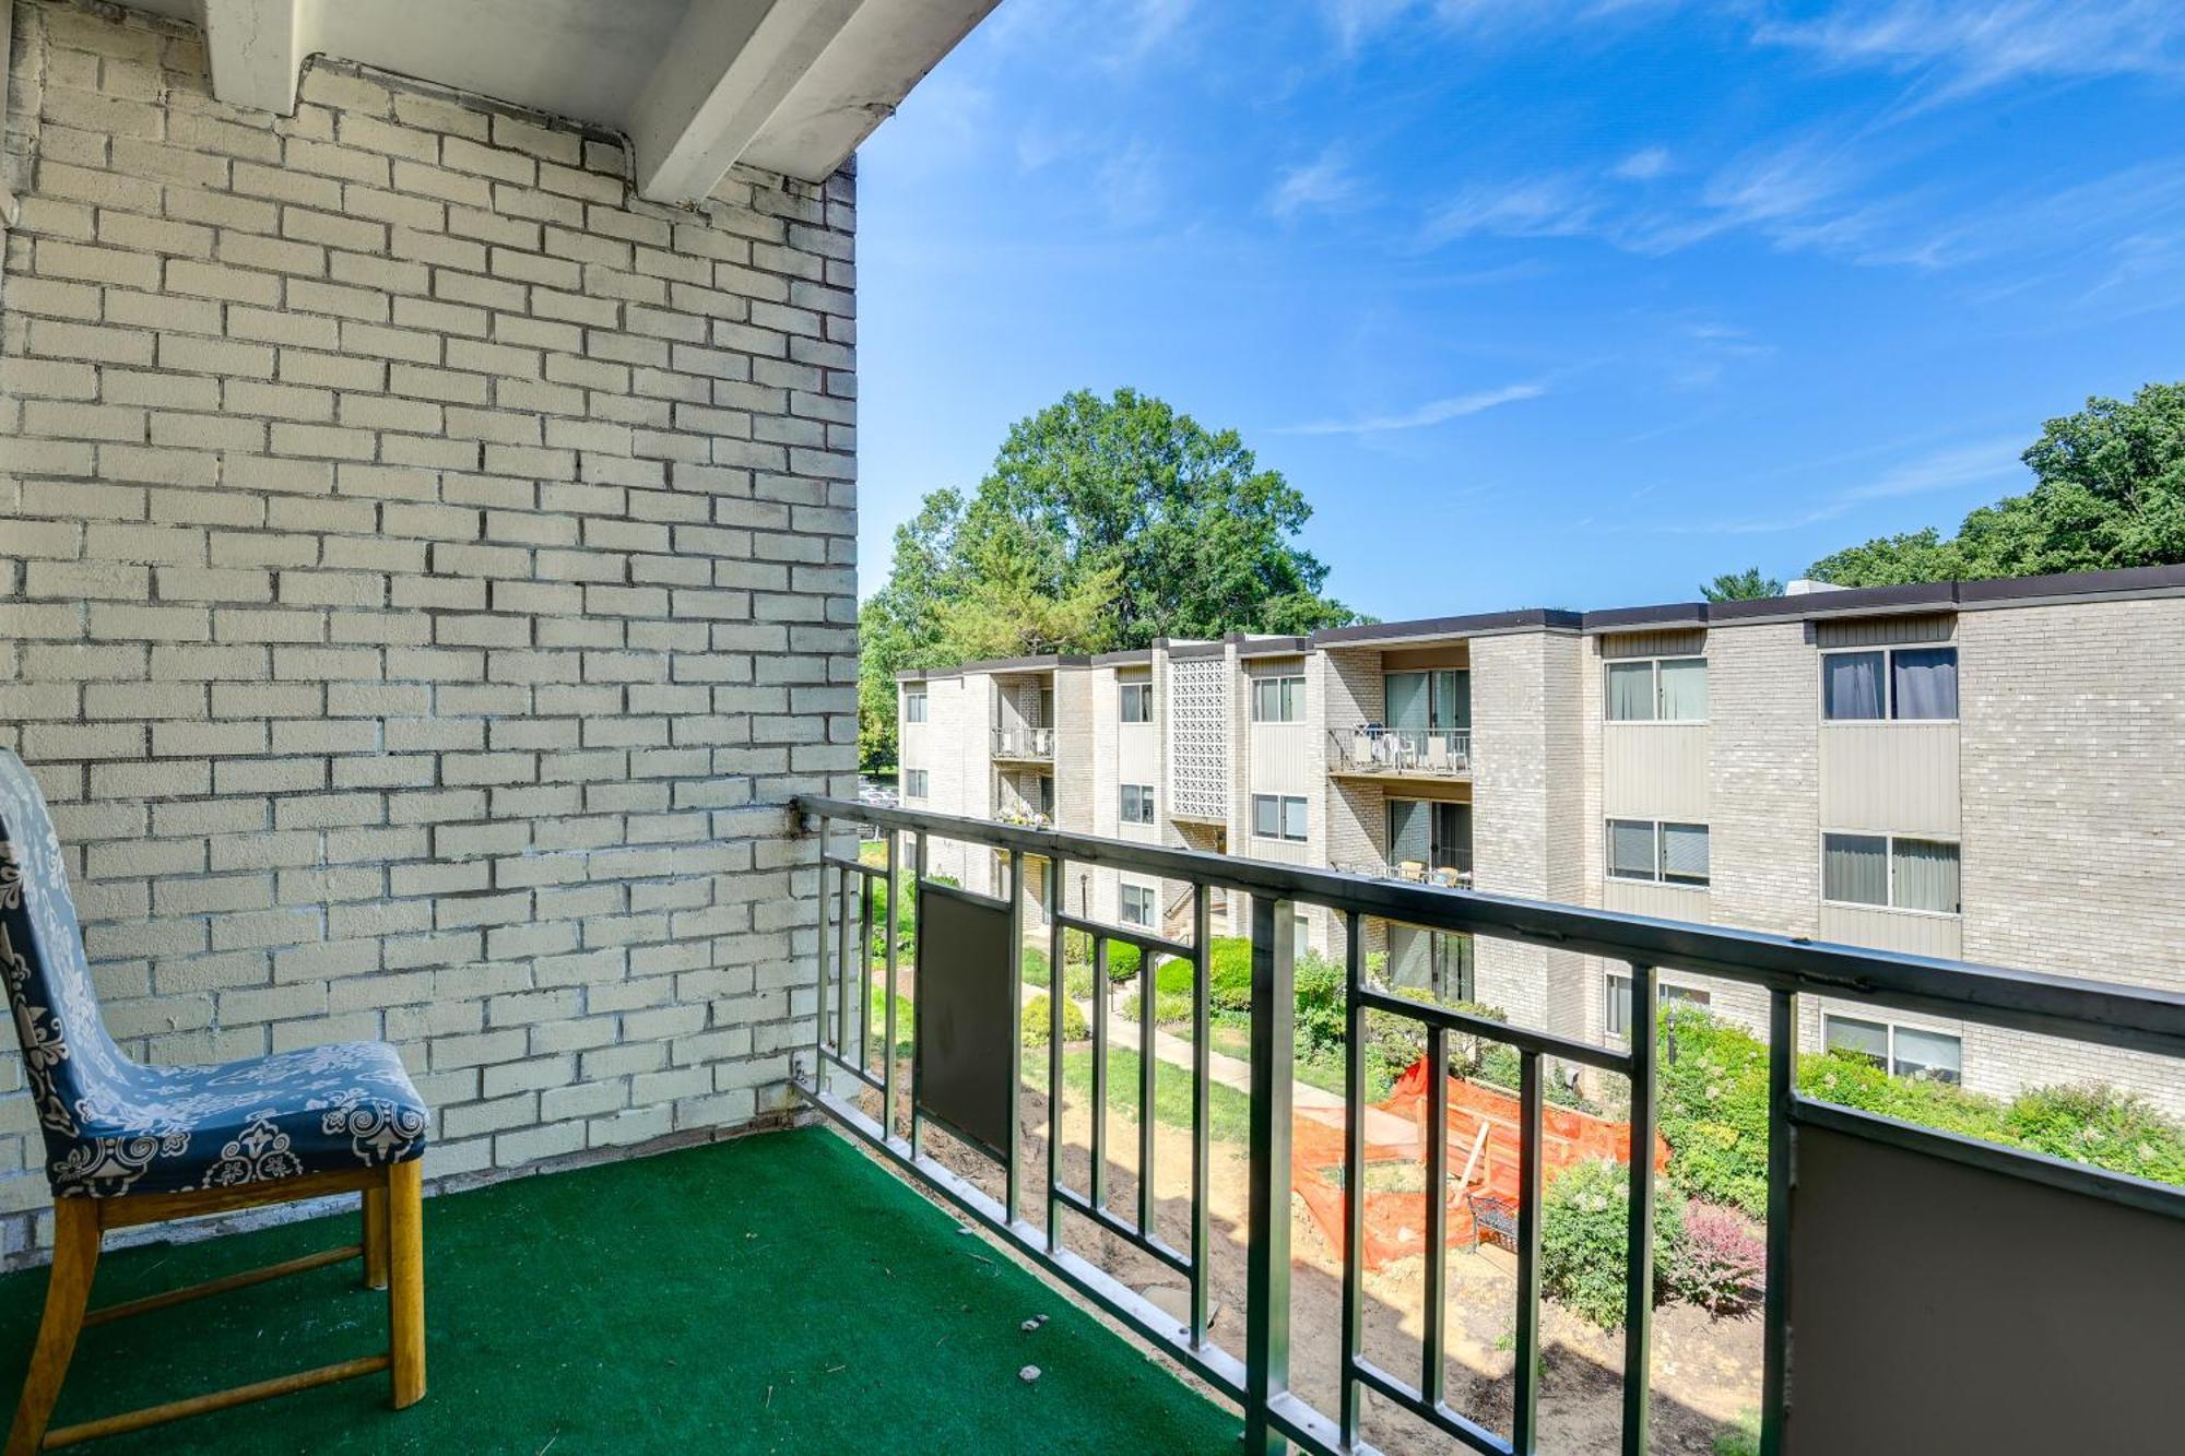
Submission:
[[[1809,1456],[1851,1449],[2165,1449],[2174,1436],[2170,1382],[2181,1345],[2176,1270],[2185,1268],[2185,1187],[2084,1163],[1973,1141],[1851,1111],[1798,1091],[1800,1001],[1829,997],[1973,1021],[2010,1032],[2067,1036],[2124,1054],[2185,1056],[2185,995],[2084,982],[1886,951],[1811,944],[1781,936],[1680,925],[1602,909],[1444,890],[1401,879],[1232,859],[1200,850],[1007,829],[979,820],[852,800],[798,798],[819,833],[819,892],[839,914],[822,916],[815,1045],[795,1067],[802,1095],[839,1126],[935,1189],[1009,1248],[1040,1264],[1154,1347],[1237,1401],[1252,1456],[1294,1441],[1311,1452],[1370,1452],[1359,1436],[1361,1395],[1381,1397],[1473,1452],[1534,1452],[1540,1441],[1540,1231],[1543,1078],[1549,1060],[1630,1082],[1630,1148],[1656,1137],[1656,968],[1750,984],[1768,997],[1768,1279],[1763,1320],[1761,1449]],[[878,818],[887,864],[867,866],[828,848],[830,829]],[[874,890],[894,885],[905,835],[913,842],[920,953],[909,968],[916,1028],[911,1087],[898,1084],[896,999],[885,1028],[865,1025],[876,971]],[[931,839],[1005,850],[1007,896],[926,881]],[[832,837],[839,842],[839,837]],[[1064,997],[1049,999],[1044,1167],[1020,1135],[1023,958],[1027,859],[1044,859],[1049,964],[1064,964],[1064,936],[1092,938],[1095,984],[1106,982],[1110,942],[1193,966],[1189,1237],[1156,1231],[1151,1117],[1141,1119],[1136,1207],[1106,1194],[1108,997],[1092,997],[1090,1183],[1064,1178]],[[1189,942],[1068,916],[1066,866],[1101,866],[1184,881],[1197,905]],[[1252,903],[1250,1137],[1245,1218],[1248,1292],[1241,1349],[1208,1336],[1208,901],[1215,890]],[[887,984],[896,973],[896,912],[887,896]],[[1516,1351],[1508,1430],[1446,1399],[1446,1229],[1451,1181],[1449,1106],[1425,1100],[1425,1316],[1418,1379],[1370,1360],[1361,1338],[1366,1058],[1348,1058],[1344,1146],[1344,1272],[1339,1395],[1322,1408],[1291,1388],[1289,1229],[1294,1093],[1294,936],[1298,903],[1333,909],[1346,929],[1348,1045],[1366,1045],[1366,1017],[1401,1017],[1425,1030],[1427,1065],[1446,1067],[1453,1038],[1503,1043],[1519,1056]],[[1481,942],[1514,940],[1569,955],[1621,962],[1632,982],[1628,1045],[1602,1047],[1562,1034],[1420,1003],[1368,982],[1366,920],[1383,918]],[[931,947],[926,944],[931,940]],[[926,951],[933,953],[926,953]],[[2150,947],[2161,955],[2165,947]],[[1138,997],[1138,1047],[1156,1045],[1156,1001]],[[872,1032],[881,1032],[874,1071]],[[1156,1056],[1138,1060],[1138,1106],[1151,1108]],[[865,1100],[878,1097],[878,1115]],[[940,1126],[994,1161],[1003,1194],[985,1191],[926,1150]],[[1462,1150],[1460,1150],[1462,1152]],[[1621,1449],[1647,1449],[1654,1310],[1654,1159],[1628,1163],[1626,1334]],[[1029,1205],[1029,1213],[1027,1213]],[[1064,1240],[1064,1213],[1090,1220],[1189,1281],[1182,1316],[1092,1264]],[[1171,1220],[1171,1229],[1173,1229]],[[2039,1244],[2039,1246],[2036,1246]],[[1905,1255],[1903,1250],[1912,1250]],[[1877,1288],[1877,1279],[1881,1288]],[[1945,1331],[1938,1336],[1936,1331]],[[2041,1334],[2050,1331],[2050,1334]],[[1796,1386],[1790,1342],[1796,1334]],[[2054,1338],[2052,1338],[2054,1336]],[[1969,1436],[1969,1430],[2001,1436]],[[1942,1434],[1936,1434],[1942,1432]]]

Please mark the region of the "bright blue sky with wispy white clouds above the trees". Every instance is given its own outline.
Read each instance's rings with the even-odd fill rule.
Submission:
[[[2178,0],[1003,0],[859,168],[867,592],[1077,387],[1401,619],[1951,529],[2185,378]]]

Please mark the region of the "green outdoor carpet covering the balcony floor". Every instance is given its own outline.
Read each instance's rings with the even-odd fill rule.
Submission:
[[[424,1233],[422,1404],[389,1410],[367,1375],[85,1449],[1237,1449],[1235,1414],[822,1128],[428,1198]],[[341,1216],[111,1253],[92,1303],[354,1237]],[[380,1351],[387,1296],[358,1275],[87,1329],[55,1423]],[[46,1270],[0,1279],[9,1412],[44,1296]]]

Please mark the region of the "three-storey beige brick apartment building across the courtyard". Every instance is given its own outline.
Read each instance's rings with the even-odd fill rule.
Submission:
[[[905,673],[905,802],[2185,990],[2185,568],[1521,610]],[[1001,892],[1005,866],[935,846]],[[1073,870],[1073,914],[1189,929]],[[1047,888],[1027,883],[1034,901]],[[1034,907],[1034,920],[1038,909]],[[1215,907],[1217,934],[1245,905]],[[1300,949],[1342,953],[1307,909]],[[1396,984],[1621,1036],[1621,966],[1372,927]],[[1663,995],[1765,1032],[1755,988]],[[1818,1003],[1800,1045],[2010,1093],[2157,1060]]]

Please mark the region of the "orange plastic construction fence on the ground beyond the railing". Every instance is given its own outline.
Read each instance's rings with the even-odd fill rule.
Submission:
[[[1427,1248],[1427,1084],[1420,1058],[1396,1080],[1385,1102],[1366,1111],[1366,1248],[1363,1266],[1381,1270]],[[1449,1095],[1449,1242],[1473,1242],[1471,1196],[1516,1202],[1519,1097],[1514,1091],[1444,1078]],[[1630,1163],[1632,1130],[1567,1106],[1540,1108],[1543,1187],[1571,1163]],[[1337,1257],[1344,1253],[1344,1111],[1300,1108],[1291,1132],[1291,1185]],[[1654,1170],[1669,1165],[1669,1143],[1654,1135]]]

